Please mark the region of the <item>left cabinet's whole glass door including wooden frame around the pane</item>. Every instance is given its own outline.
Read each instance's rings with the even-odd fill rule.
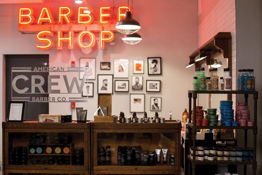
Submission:
[[[87,133],[87,129],[11,129],[5,132],[5,168],[88,170]]]

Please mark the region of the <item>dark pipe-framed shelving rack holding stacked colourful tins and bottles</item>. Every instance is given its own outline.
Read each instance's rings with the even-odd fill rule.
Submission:
[[[196,105],[197,105],[197,94],[243,94],[245,96],[245,102],[248,102],[248,96],[249,94],[253,94],[254,98],[254,126],[248,127],[248,126],[196,126]],[[193,97],[193,113],[194,113],[194,121],[191,123],[191,115],[192,115],[192,97]],[[256,175],[256,168],[257,168],[257,162],[256,162],[256,135],[257,135],[257,99],[258,99],[258,92],[257,91],[188,91],[188,98],[189,98],[189,124],[188,124],[188,130],[189,130],[189,141],[191,141],[191,133],[192,133],[192,146],[193,146],[193,159],[190,158],[189,155],[187,155],[187,159],[192,164],[192,174],[195,175],[196,165],[197,164],[236,164],[236,165],[244,165],[244,175],[247,175],[247,165],[252,165],[253,169],[253,175]],[[244,129],[245,131],[245,141],[244,145],[247,146],[247,131],[249,129],[253,130],[253,148],[254,148],[254,154],[253,154],[253,161],[247,161],[247,162],[232,162],[232,161],[196,161],[196,134],[197,129]],[[189,142],[190,143],[190,142]],[[188,153],[190,153],[190,144],[188,146]],[[190,174],[190,170],[188,172]]]

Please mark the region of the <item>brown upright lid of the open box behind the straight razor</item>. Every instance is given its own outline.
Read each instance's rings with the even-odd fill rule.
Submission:
[[[98,105],[101,107],[107,106],[107,116],[112,115],[112,94],[98,93]],[[98,107],[97,105],[97,107]],[[98,116],[102,115],[101,111],[98,111]]]

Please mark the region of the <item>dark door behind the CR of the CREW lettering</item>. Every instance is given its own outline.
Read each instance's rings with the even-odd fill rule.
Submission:
[[[16,99],[21,98],[31,98],[31,97],[48,97],[48,72],[24,72],[18,71],[12,73],[13,69],[18,69],[18,67],[27,68],[31,67],[32,70],[34,67],[48,67],[49,66],[49,55],[5,55],[6,57],[6,111],[8,110],[9,101],[16,101]],[[20,69],[21,70],[21,69]],[[17,79],[15,85],[18,89],[28,88],[26,94],[17,93],[12,88],[12,79],[16,76],[22,75],[26,76],[28,80],[22,78]],[[35,88],[35,93],[31,94],[31,76],[40,75],[44,78],[45,83],[42,86],[46,94],[39,94],[40,90]],[[25,78],[26,79],[26,78]],[[36,79],[35,83],[40,83],[39,79]],[[12,99],[13,97],[13,99]],[[7,112],[6,112],[7,113]],[[28,120],[38,120],[39,114],[48,114],[48,103],[41,102],[28,102]],[[26,119],[26,108],[24,119]]]

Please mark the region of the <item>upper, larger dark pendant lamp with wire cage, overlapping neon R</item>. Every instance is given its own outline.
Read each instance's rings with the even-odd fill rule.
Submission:
[[[131,12],[125,12],[125,18],[116,23],[116,30],[122,34],[134,34],[141,29],[139,22],[132,18]]]

